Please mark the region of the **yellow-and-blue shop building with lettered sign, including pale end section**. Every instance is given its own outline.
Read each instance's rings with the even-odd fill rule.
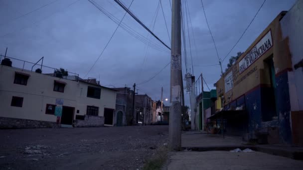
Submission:
[[[216,83],[223,110],[211,117],[227,121],[227,133],[303,146],[302,68],[294,62],[303,58],[302,7],[299,0],[282,11]]]

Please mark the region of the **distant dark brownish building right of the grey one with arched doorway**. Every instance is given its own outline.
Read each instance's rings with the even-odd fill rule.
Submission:
[[[152,98],[147,94],[135,96],[137,122],[143,125],[152,123]]]

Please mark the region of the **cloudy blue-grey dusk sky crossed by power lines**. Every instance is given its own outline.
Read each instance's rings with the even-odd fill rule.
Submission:
[[[125,13],[114,0],[94,1],[119,20]],[[129,6],[132,0],[121,1]],[[227,55],[263,1],[203,0],[220,58],[223,59]],[[245,51],[272,20],[282,10],[289,10],[295,1],[266,0],[254,22],[230,56],[236,55],[239,51]],[[130,9],[153,30],[155,35],[170,46],[158,2],[158,0],[134,0]],[[169,0],[161,0],[161,2],[170,35]],[[213,88],[213,84],[220,78],[220,67],[218,65],[203,67],[218,64],[218,58],[206,25],[201,1],[187,0],[187,3],[191,19],[189,34],[194,75],[198,77],[203,73],[208,86]],[[0,0],[0,20],[0,54],[4,55],[7,47],[7,56],[33,63],[44,56],[43,65],[52,68],[62,67],[79,74],[82,78],[95,63],[117,27],[114,21],[88,0]],[[170,61],[170,51],[160,42],[151,38],[150,34],[130,15],[126,15],[123,24],[133,32],[136,31],[135,36],[119,27],[100,59],[88,73],[89,78],[99,80],[100,77],[102,85],[132,87],[134,83],[144,83]],[[141,40],[145,43],[138,40],[139,34],[143,36],[144,39],[141,38]],[[187,35],[186,38],[188,43]],[[149,40],[151,43],[148,42]],[[147,44],[152,47],[148,47]],[[191,67],[189,44],[186,46],[187,68],[189,69]],[[182,60],[182,64],[184,64],[183,57]],[[223,62],[223,70],[227,63],[228,58]],[[13,65],[22,66],[22,63],[13,61]],[[26,67],[31,68],[30,65]],[[185,73],[185,65],[182,68]],[[43,72],[52,71],[44,69]],[[169,76],[170,70],[169,67],[166,67],[151,81],[138,85],[138,92],[147,93],[152,99],[158,100],[161,95],[161,86],[163,86],[163,97],[168,98]],[[189,105],[186,93],[185,100],[185,103]],[[164,102],[164,104],[168,103]]]

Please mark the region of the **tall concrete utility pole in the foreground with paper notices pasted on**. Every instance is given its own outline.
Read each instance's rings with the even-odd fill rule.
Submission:
[[[171,150],[181,148],[181,0],[172,0],[171,14],[171,63],[170,63],[170,115],[169,147]]]

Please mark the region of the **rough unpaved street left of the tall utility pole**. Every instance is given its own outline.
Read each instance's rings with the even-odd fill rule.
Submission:
[[[0,130],[0,170],[136,170],[168,126]]]

